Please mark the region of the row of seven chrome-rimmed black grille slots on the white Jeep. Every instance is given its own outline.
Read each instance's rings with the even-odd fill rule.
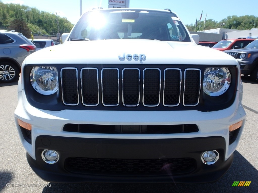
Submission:
[[[200,97],[201,70],[187,68],[182,76],[179,68],[82,68],[80,80],[79,86],[76,68],[61,69],[64,104],[79,104],[81,93],[84,106],[98,106],[101,101],[110,107],[120,104],[156,107],[162,103],[163,106],[174,107],[180,105],[181,98],[184,106],[196,106]]]

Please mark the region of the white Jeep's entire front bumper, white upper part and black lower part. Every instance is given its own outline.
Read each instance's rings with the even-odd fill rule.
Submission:
[[[15,121],[31,168],[46,181],[211,182],[219,179],[229,169],[233,152],[243,131],[246,114],[239,96],[241,95],[237,91],[236,100],[229,108],[212,112],[49,111],[31,106],[26,100],[24,91],[21,91],[18,92]],[[24,138],[17,119],[31,125],[30,142]],[[243,125],[238,129],[234,142],[229,143],[229,126],[241,120]],[[64,131],[63,127],[66,124],[153,126],[194,124],[198,126],[198,131],[167,134],[80,133]],[[60,160],[55,164],[45,163],[41,157],[45,149],[57,151]],[[201,154],[209,150],[218,151],[220,158],[212,165],[205,165],[201,162]],[[95,164],[96,159],[100,165]],[[107,159],[111,162],[107,162]],[[115,163],[124,163],[126,171],[129,172],[120,172],[118,169],[114,172],[106,171],[104,168],[112,166],[113,160],[116,160]],[[152,166],[152,160],[156,165]],[[130,172],[135,166],[132,165],[134,162],[138,164],[136,170],[140,172]],[[145,163],[149,165],[147,168],[149,173],[141,172],[141,167],[146,165]],[[77,167],[78,164],[81,165]],[[92,169],[88,164],[101,169],[95,170],[94,167]],[[173,165],[178,167],[171,169]],[[118,164],[115,168],[119,167],[121,166]],[[150,170],[152,167],[155,167],[155,171]]]

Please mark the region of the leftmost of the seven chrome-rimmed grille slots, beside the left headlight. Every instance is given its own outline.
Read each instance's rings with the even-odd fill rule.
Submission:
[[[78,105],[78,72],[76,68],[61,69],[62,99],[66,105]]]

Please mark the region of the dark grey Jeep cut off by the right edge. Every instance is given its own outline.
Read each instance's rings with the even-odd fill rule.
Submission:
[[[226,50],[224,52],[237,59],[241,74],[250,75],[253,81],[258,82],[258,39],[249,43],[243,49]]]

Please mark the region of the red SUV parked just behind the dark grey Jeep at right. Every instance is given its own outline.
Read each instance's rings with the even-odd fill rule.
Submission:
[[[220,51],[239,49],[246,47],[249,43],[251,43],[254,40],[254,38],[225,39],[216,43],[212,48]]]

